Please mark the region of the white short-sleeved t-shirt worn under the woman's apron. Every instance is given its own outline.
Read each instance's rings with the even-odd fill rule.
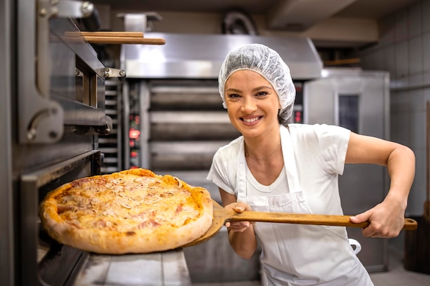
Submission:
[[[326,124],[289,124],[288,129],[293,143],[300,188],[310,212],[343,215],[339,198],[338,175],[343,174],[350,130]],[[280,132],[288,131],[284,126],[280,126]],[[208,180],[227,193],[236,196],[238,194],[236,189],[238,158],[245,156],[239,154],[242,144],[243,136],[240,136],[231,143],[220,147],[214,155],[207,175]],[[282,142],[281,144],[284,150],[284,144]],[[288,181],[282,173],[285,173],[285,169],[273,182],[277,185],[271,184],[266,191],[270,192],[271,188],[279,191],[282,188],[288,192]],[[247,171],[246,174],[249,177],[251,172]],[[247,178],[247,184],[253,184],[253,180],[255,179]],[[256,195],[256,193],[247,192],[247,195]],[[261,192],[261,195],[264,195],[264,191]]]

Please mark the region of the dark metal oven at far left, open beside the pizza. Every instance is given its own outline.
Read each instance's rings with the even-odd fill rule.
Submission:
[[[7,0],[0,13],[1,284],[71,285],[89,254],[50,239],[38,204],[100,174],[98,137],[112,130],[105,81],[119,70],[79,36],[95,20],[88,1]]]

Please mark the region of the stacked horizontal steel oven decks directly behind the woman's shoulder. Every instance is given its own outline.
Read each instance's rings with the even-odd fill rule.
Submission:
[[[130,129],[139,130],[138,144],[134,139],[129,139],[132,144],[126,143],[135,145],[135,158],[130,158],[134,163],[128,167],[166,174],[208,170],[216,150],[240,135],[229,122],[215,80],[127,83],[126,102],[133,110],[128,117],[139,117],[139,124],[133,121]],[[197,185],[201,181],[187,182]]]

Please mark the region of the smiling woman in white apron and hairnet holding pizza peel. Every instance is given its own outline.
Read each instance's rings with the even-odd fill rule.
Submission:
[[[327,125],[288,124],[295,87],[278,53],[264,45],[231,51],[219,91],[242,136],[221,147],[207,176],[225,208],[242,211],[342,215],[337,177],[345,163],[387,166],[389,193],[351,217],[366,222],[365,237],[396,237],[403,228],[415,156],[398,143]],[[373,285],[355,256],[346,228],[227,222],[234,251],[249,259],[262,246],[269,285]]]

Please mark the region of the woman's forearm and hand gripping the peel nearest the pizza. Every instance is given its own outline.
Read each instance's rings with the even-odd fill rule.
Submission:
[[[219,188],[221,200],[225,208],[233,209],[236,213],[251,211],[245,202],[237,202],[236,195],[231,195]],[[244,259],[250,259],[257,249],[257,238],[250,222],[227,222],[227,231],[231,248]]]

